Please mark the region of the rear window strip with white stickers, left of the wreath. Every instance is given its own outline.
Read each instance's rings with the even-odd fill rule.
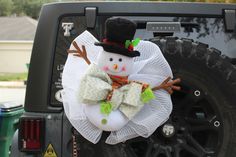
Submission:
[[[65,30],[62,27],[63,23],[73,23],[74,27],[70,31],[70,36],[64,36]],[[67,59],[66,50],[69,48],[73,39],[82,33],[86,29],[85,18],[83,16],[76,17],[64,17],[60,20],[58,27],[58,36],[56,42],[54,63],[53,63],[53,75],[51,83],[51,105],[60,106],[61,99],[61,76],[64,68],[65,61]]]

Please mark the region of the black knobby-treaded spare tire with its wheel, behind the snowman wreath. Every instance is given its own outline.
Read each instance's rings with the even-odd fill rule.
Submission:
[[[150,41],[182,79],[182,90],[172,95],[170,119],[147,139],[145,156],[235,156],[236,67],[219,50],[191,39]]]

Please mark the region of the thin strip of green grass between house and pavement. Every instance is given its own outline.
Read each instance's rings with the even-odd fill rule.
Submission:
[[[0,81],[25,81],[28,73],[0,73]]]

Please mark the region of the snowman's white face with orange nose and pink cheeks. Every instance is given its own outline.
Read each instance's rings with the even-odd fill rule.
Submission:
[[[134,60],[131,57],[103,51],[98,56],[97,64],[110,75],[128,76],[132,72]]]

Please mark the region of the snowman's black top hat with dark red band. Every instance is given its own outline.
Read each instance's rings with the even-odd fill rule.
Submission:
[[[133,50],[133,46],[125,46],[127,40],[132,41],[136,31],[136,24],[128,19],[112,17],[105,23],[105,39],[96,42],[95,45],[102,46],[110,53],[117,53],[127,57],[140,56],[138,51]]]

